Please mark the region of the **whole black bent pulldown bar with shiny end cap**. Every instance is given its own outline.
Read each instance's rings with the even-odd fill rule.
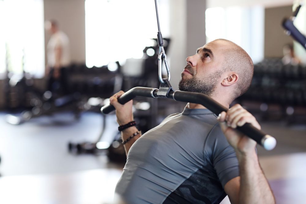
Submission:
[[[134,87],[131,90],[124,93],[120,98],[118,98],[118,102],[121,104],[125,104],[129,102],[136,96],[143,96],[148,98],[160,98],[157,95],[158,89],[156,88],[146,88],[146,87]],[[162,97],[165,98],[165,97]],[[166,98],[174,99],[176,101],[181,102],[191,102],[197,103],[205,106],[207,109],[211,110],[211,112],[219,115],[222,111],[227,112],[227,108],[222,106],[220,103],[216,102],[209,96],[201,93],[187,92],[187,91],[170,91]],[[108,104],[101,108],[101,112],[104,114],[108,114],[115,110],[115,107]],[[263,146],[266,150],[272,150],[276,146],[276,140],[271,135],[267,135],[264,132],[258,130],[253,125],[247,123],[241,127],[237,127],[237,130],[248,135],[248,137],[255,140],[259,145]]]

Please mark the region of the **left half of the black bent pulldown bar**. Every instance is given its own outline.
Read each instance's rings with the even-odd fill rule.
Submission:
[[[155,91],[156,90],[156,91]],[[157,98],[157,91],[156,88],[146,88],[146,87],[134,87],[130,89],[129,91],[125,92],[122,96],[118,98],[118,102],[120,104],[125,104],[135,98],[136,96],[144,96],[144,97],[151,97],[151,98]],[[154,94],[153,94],[154,92]],[[156,93],[155,93],[156,92]],[[155,96],[154,96],[155,95]],[[115,110],[115,107],[113,105],[105,105],[101,108],[101,112],[104,114],[108,114]]]

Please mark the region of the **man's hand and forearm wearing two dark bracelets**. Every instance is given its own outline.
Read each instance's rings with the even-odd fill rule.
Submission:
[[[119,125],[124,125],[134,120],[133,113],[132,113],[133,101],[131,100],[125,103],[124,105],[121,105],[118,102],[117,98],[119,98],[122,94],[124,94],[124,91],[119,91],[118,93],[110,97],[110,104],[113,105],[116,109],[117,122]],[[139,132],[139,130],[135,126],[126,128],[125,130],[121,132],[122,141],[125,141],[137,131]],[[141,132],[138,135],[135,135],[134,137],[132,137],[132,139],[130,139],[127,143],[124,144],[126,155],[128,155],[129,149],[132,147],[132,144],[134,144],[134,142],[138,138],[140,138],[140,136],[141,136]]]

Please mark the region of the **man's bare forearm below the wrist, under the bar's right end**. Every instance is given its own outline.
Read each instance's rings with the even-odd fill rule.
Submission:
[[[275,203],[269,183],[259,165],[257,154],[236,152],[240,170],[239,203]]]

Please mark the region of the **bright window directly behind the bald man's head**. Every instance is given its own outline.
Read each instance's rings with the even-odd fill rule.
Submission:
[[[264,57],[264,8],[233,6],[206,9],[206,40],[223,38],[241,46],[259,62]]]

